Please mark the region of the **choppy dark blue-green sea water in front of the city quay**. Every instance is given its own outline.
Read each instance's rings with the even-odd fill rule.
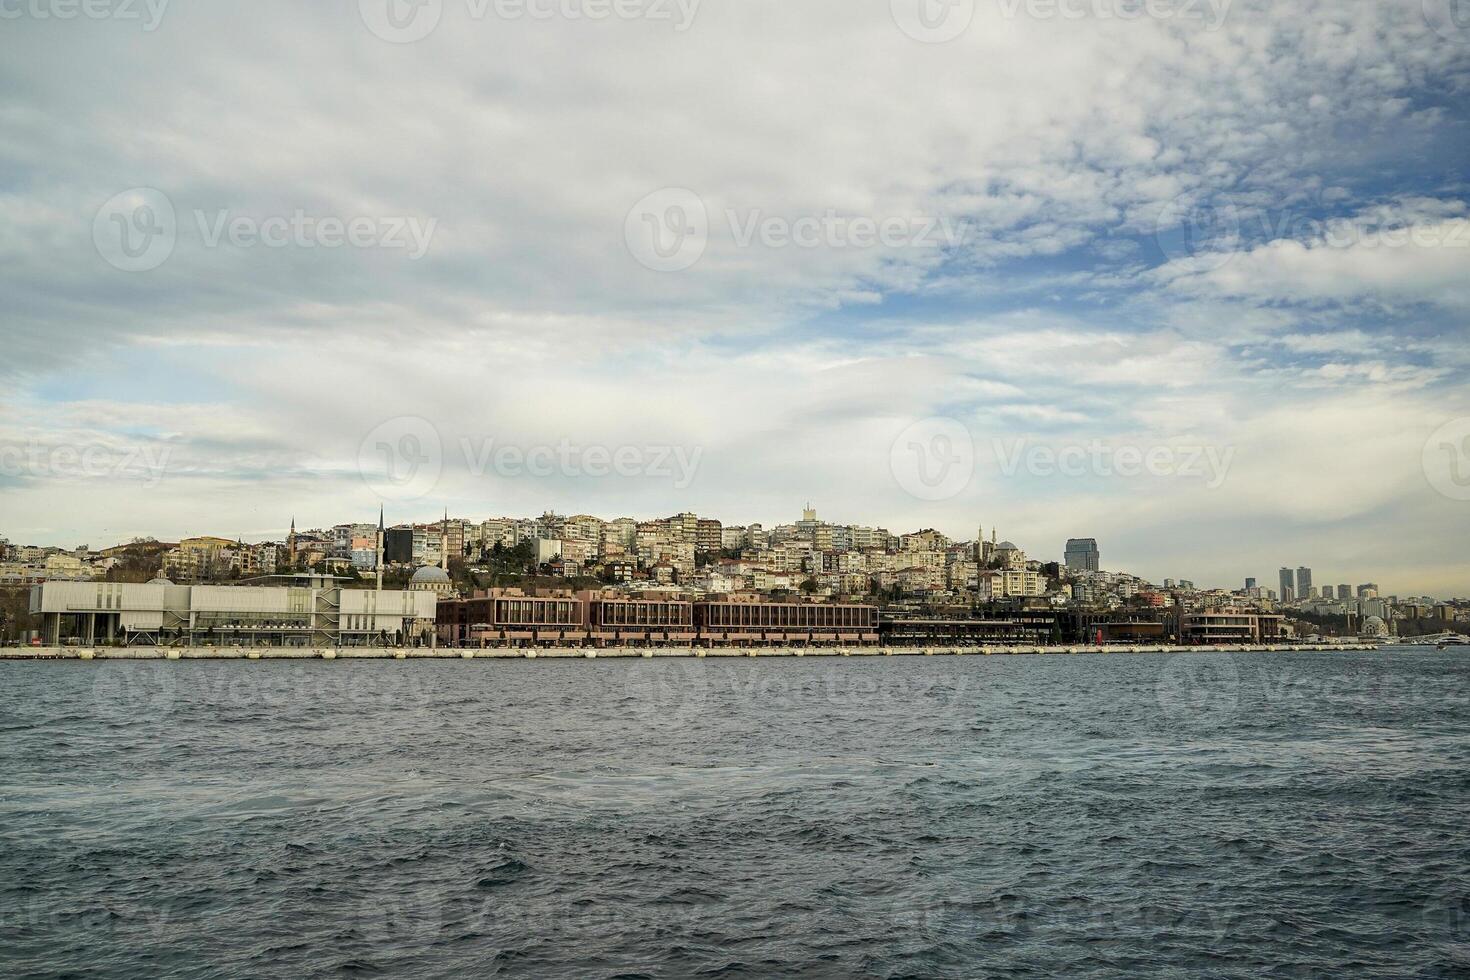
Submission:
[[[1470,654],[0,664],[0,976],[1467,976]]]

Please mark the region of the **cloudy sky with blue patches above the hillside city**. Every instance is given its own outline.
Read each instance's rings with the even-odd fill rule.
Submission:
[[[3,0],[0,536],[1467,595],[1467,110],[1452,0]]]

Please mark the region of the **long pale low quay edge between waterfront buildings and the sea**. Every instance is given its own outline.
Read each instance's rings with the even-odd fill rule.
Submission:
[[[1377,644],[1254,644],[1173,646],[1136,644],[1111,646],[1038,646],[986,644],[979,646],[504,646],[504,648],[391,648],[391,646],[26,646],[0,649],[0,660],[706,660],[761,657],[1107,657],[1132,654],[1276,654],[1379,649]]]

